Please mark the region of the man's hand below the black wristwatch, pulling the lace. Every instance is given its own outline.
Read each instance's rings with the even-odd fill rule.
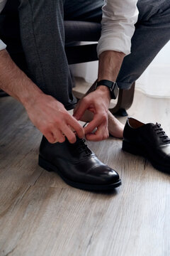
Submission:
[[[74,109],[74,117],[79,120],[86,110],[93,112],[94,118],[84,128],[86,139],[101,141],[108,138],[108,107],[111,95],[106,86],[98,86],[94,92],[79,100]],[[96,129],[96,132],[91,133]]]

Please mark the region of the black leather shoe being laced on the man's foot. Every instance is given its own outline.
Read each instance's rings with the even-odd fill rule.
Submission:
[[[84,143],[77,138],[71,144],[50,144],[42,137],[39,165],[47,171],[56,171],[62,179],[75,188],[86,190],[110,190],[121,185],[116,171],[103,164]]]

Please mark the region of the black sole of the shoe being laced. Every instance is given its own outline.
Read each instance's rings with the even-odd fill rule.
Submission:
[[[41,156],[39,156],[38,164],[40,167],[45,169],[46,171],[55,171],[62,179],[67,183],[69,186],[72,186],[74,188],[80,188],[84,190],[91,190],[91,191],[109,191],[113,190],[114,188],[118,188],[120,186],[121,180],[119,179],[116,183],[108,184],[108,185],[96,185],[96,184],[86,184],[86,183],[78,183],[74,181],[70,181],[68,178],[65,178],[61,171],[57,169],[56,166],[53,164],[50,164],[50,162],[46,161],[45,159],[42,159]]]

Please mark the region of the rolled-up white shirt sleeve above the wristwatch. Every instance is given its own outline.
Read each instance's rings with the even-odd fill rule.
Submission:
[[[138,17],[137,0],[106,0],[102,9],[98,56],[105,50],[130,54],[131,38]]]

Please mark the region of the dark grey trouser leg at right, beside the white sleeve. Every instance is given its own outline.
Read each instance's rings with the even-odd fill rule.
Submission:
[[[170,39],[170,1],[139,0],[140,15],[132,37],[131,54],[118,75],[118,86],[128,89],[142,75]]]

